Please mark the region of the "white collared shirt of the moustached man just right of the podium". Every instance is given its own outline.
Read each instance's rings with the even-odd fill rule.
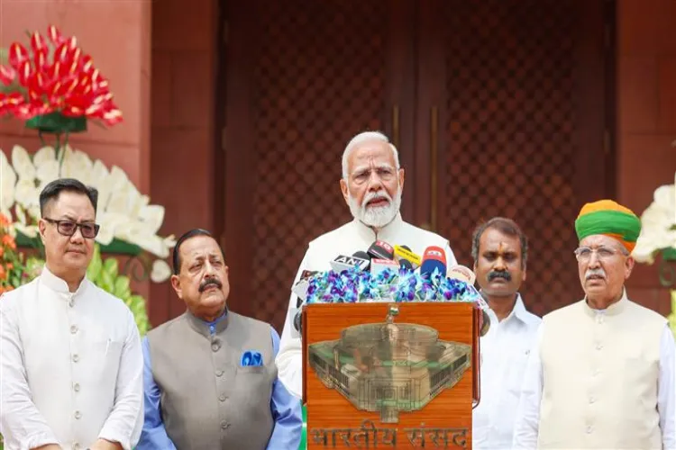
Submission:
[[[498,322],[487,310],[490,328],[480,339],[481,401],[472,411],[472,448],[507,450],[512,447],[514,414],[521,393],[525,365],[542,320],[525,310],[521,295],[514,309]]]

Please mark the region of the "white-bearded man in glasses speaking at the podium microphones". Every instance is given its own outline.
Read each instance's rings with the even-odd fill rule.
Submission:
[[[377,239],[391,246],[405,245],[419,255],[426,247],[442,247],[446,253],[446,266],[457,264],[447,239],[401,219],[399,207],[404,169],[399,166],[397,148],[384,134],[365,131],[352,138],[343,151],[340,186],[354,220],[310,242],[294,284],[303,271],[331,270],[330,261],[334,257],[366,251]],[[293,325],[297,307],[297,295],[292,293],[277,365],[279,379],[289,392],[300,398],[303,389],[302,346]]]

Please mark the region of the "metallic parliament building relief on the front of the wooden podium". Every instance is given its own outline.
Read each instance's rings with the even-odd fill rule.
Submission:
[[[355,325],[339,340],[309,346],[309,365],[328,388],[359,410],[397,423],[421,410],[470,367],[471,346],[439,340],[436,329],[408,323]]]

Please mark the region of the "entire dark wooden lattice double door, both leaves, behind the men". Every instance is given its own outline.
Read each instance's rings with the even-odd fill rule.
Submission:
[[[281,328],[307,243],[351,220],[346,142],[384,130],[402,215],[472,265],[497,215],[530,238],[536,313],[580,291],[573,220],[612,155],[601,0],[228,2],[223,244],[230,307]]]

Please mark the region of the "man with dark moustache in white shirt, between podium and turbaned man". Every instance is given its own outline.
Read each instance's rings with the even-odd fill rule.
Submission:
[[[481,400],[472,410],[472,448],[509,449],[525,365],[541,322],[526,311],[518,293],[525,281],[528,240],[514,220],[496,217],[475,229],[471,253],[490,306],[489,332],[480,338]]]

